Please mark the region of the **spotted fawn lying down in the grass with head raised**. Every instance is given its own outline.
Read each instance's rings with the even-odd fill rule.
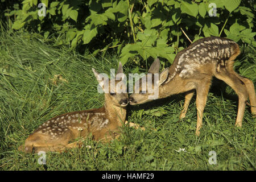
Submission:
[[[117,92],[115,87],[123,80],[122,78],[119,81],[115,80],[113,88],[110,86],[111,81],[104,83],[101,81],[100,74],[92,70],[102,89],[107,86],[105,84],[109,84],[106,87],[109,90],[105,91],[104,107],[65,113],[49,119],[28,136],[24,147],[20,146],[19,150],[27,153],[63,151],[65,148],[79,147],[79,143],[69,142],[78,137],[86,137],[90,133],[95,140],[108,140],[118,136],[119,128],[125,123],[128,95],[126,92]],[[118,73],[123,73],[121,63],[119,63]],[[122,89],[126,90],[126,85],[124,87]],[[130,123],[130,126],[133,125],[137,127],[136,124]]]

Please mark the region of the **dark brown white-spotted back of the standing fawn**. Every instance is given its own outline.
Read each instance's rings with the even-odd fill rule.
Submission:
[[[199,39],[177,53],[168,80],[175,75],[192,78],[198,73],[213,75],[214,71],[220,72],[225,67],[233,69],[233,63],[227,60],[239,54],[239,46],[233,40],[220,37]]]

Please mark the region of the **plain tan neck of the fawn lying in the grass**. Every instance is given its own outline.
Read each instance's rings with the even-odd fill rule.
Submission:
[[[122,126],[126,118],[126,107],[115,106],[105,102],[105,112],[111,123],[118,123],[118,126]]]

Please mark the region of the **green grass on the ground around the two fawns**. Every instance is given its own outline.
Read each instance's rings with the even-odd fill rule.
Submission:
[[[47,153],[46,164],[40,165],[39,155],[23,154],[18,146],[56,115],[101,107],[104,96],[97,93],[91,69],[109,74],[110,68],[117,68],[118,57],[79,55],[24,32],[2,32],[0,43],[1,170],[255,170],[255,120],[247,106],[243,127],[234,127],[237,96],[218,80],[209,93],[200,137],[195,136],[195,97],[187,117],[179,122],[184,102],[179,94],[129,106],[127,119],[146,131],[125,128],[111,143],[88,138],[82,148]],[[246,47],[235,64],[254,84],[255,55],[253,48]],[[134,67],[127,64],[124,69],[130,73]],[[185,152],[177,152],[179,148]],[[210,151],[217,154],[216,165],[208,162]]]

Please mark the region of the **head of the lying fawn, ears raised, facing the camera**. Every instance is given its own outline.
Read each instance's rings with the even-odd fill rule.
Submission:
[[[109,79],[108,75],[98,73],[92,69],[94,76],[99,82],[100,87],[105,93],[105,103],[111,103],[118,107],[125,107],[128,105],[128,94],[126,92],[126,80],[123,74],[122,64],[119,63],[117,74],[115,78]]]

